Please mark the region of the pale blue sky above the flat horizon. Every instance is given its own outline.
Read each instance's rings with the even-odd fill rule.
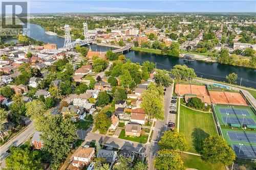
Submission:
[[[256,1],[36,1],[30,13],[59,12],[256,12]]]

